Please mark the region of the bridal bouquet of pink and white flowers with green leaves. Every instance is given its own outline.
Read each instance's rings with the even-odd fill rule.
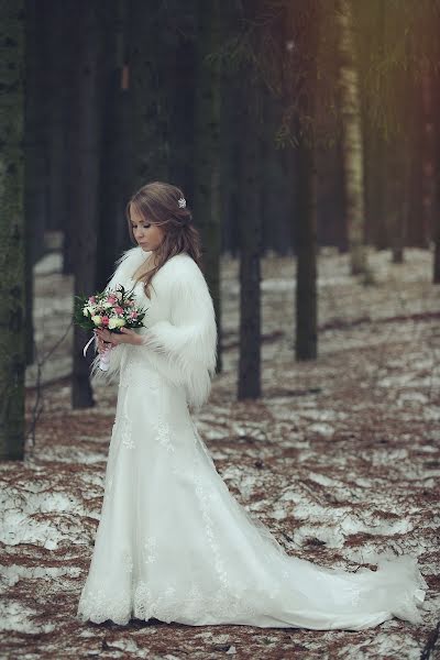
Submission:
[[[141,328],[146,310],[136,306],[133,289],[125,290],[120,284],[116,289],[95,294],[94,296],[76,296],[74,322],[82,330],[95,331],[107,328],[110,332],[121,333],[121,328]],[[84,355],[95,337],[84,346]],[[108,371],[109,350],[101,353],[99,369]]]

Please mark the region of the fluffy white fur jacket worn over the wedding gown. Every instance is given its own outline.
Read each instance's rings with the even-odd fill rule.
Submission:
[[[118,284],[132,288],[134,273],[150,254],[142,248],[124,252],[106,288]],[[136,287],[136,298],[147,309],[145,327],[139,330],[144,343],[135,349],[165,378],[184,386],[188,404],[199,408],[208,399],[217,362],[216,316],[206,279],[196,262],[180,253],[157,271],[150,292],[148,299],[142,283]],[[110,369],[106,372],[110,378],[119,372],[124,349],[120,344],[110,351]],[[98,360],[99,355],[92,374],[106,377],[97,369]]]

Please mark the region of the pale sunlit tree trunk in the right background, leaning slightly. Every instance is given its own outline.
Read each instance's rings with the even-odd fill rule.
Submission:
[[[367,272],[365,250],[364,172],[362,121],[359,102],[359,81],[353,44],[351,0],[338,0],[340,48],[340,107],[342,119],[342,157],[345,185],[345,213],[349,234],[351,273]]]

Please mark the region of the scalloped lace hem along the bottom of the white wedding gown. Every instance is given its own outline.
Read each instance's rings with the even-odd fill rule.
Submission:
[[[428,584],[422,578],[418,565],[417,559],[410,556],[400,556],[393,559],[377,560],[377,570],[386,571],[389,576],[389,572],[394,572],[398,581],[396,582],[395,588],[387,594],[387,604],[383,604],[384,608],[380,606],[377,608],[378,619],[375,620],[374,625],[396,616],[400,619],[407,620],[411,624],[420,624],[422,622],[420,606],[425,600],[425,592],[428,588]],[[402,571],[404,570],[404,573]],[[364,569],[370,571],[370,569]],[[340,571],[336,571],[340,572]],[[342,571],[341,571],[342,572]],[[398,582],[400,584],[398,584]],[[264,601],[264,605],[262,605]],[[202,590],[195,583],[190,585],[188,591],[184,595],[177,595],[175,586],[168,584],[157,595],[153,594],[151,587],[146,582],[139,582],[132,591],[132,597],[114,596],[107,592],[105,588],[90,590],[82,588],[81,596],[78,604],[77,618],[81,622],[90,620],[96,624],[101,624],[108,619],[119,625],[127,625],[131,618],[138,618],[141,620],[148,620],[156,618],[166,624],[172,622],[180,623],[185,625],[199,626],[199,625],[216,625],[216,624],[239,624],[257,627],[285,627],[285,628],[312,628],[314,625],[301,626],[298,623],[293,623],[295,619],[295,612],[290,609],[287,618],[286,613],[278,612],[280,618],[274,617],[273,607],[271,604],[275,604],[277,598],[280,596],[280,590],[274,588],[270,594],[250,594],[249,591],[239,593],[231,592],[230,590],[220,588],[212,596],[206,596]],[[283,598],[283,604],[288,608],[286,598]],[[257,604],[258,606],[255,606]],[[283,607],[282,607],[283,609]],[[305,614],[298,612],[298,617]],[[355,610],[351,612],[353,617],[352,624],[346,623],[350,620],[349,613],[334,613],[334,618],[341,617],[341,622],[345,623],[338,625],[320,625],[318,622],[321,619],[321,615],[328,616],[328,613],[315,612],[312,615],[310,612],[308,616],[316,616],[316,628],[317,629],[362,629],[364,627],[371,627],[371,619],[366,623],[359,623],[360,613]],[[365,613],[366,614],[366,613]],[[373,614],[370,610],[369,616]],[[288,618],[290,617],[292,623]],[[270,622],[271,623],[262,623]],[[311,619],[310,619],[311,622]]]

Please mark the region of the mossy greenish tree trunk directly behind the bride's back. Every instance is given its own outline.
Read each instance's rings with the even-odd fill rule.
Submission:
[[[195,183],[194,216],[200,231],[204,251],[204,272],[212,295],[218,328],[217,371],[221,371],[220,322],[220,68],[218,61],[210,65],[207,57],[220,43],[220,0],[198,2],[198,50],[195,113]]]

